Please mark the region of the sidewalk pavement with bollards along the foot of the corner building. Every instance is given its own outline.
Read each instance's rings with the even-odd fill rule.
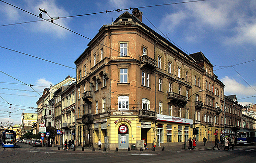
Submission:
[[[206,142],[206,145],[204,146],[203,142],[199,142],[196,144],[195,149],[193,150],[204,150],[204,149],[212,149],[213,146],[215,145],[215,143],[212,142]],[[64,149],[62,148],[62,145],[58,145],[58,146],[54,146],[54,147],[45,147],[47,150],[52,150],[52,151],[58,151],[58,147],[60,147],[60,151],[64,151]],[[182,148],[183,145],[175,145],[175,146],[164,146],[164,151],[184,151],[184,150],[189,150],[189,142],[186,142],[186,149]],[[223,149],[224,147],[222,146],[222,144],[219,145],[220,149]],[[217,148],[216,148],[217,149]],[[158,146],[155,148],[155,152],[156,151],[162,151],[163,150],[163,146]],[[77,146],[77,148],[75,149],[75,151],[73,151],[72,149],[68,149],[67,151],[81,151],[81,152],[92,152],[93,148],[92,147],[84,147],[84,151],[82,151],[82,146]],[[118,149],[119,152],[127,152],[128,149]],[[106,149],[106,151],[103,151],[103,148],[101,148],[101,150],[98,150],[98,148],[95,148],[95,152],[118,152],[116,150],[110,150],[110,149]],[[130,150],[131,152],[141,152],[140,148],[137,148],[136,150]],[[148,149],[143,149],[143,151],[153,151],[153,148],[148,148]],[[154,151],[153,151],[154,152]]]

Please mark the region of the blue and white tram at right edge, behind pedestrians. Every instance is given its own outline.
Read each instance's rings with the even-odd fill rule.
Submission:
[[[241,129],[237,131],[238,144],[251,144],[256,142],[256,130]]]

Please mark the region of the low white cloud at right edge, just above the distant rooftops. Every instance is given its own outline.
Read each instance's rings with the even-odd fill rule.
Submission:
[[[241,83],[238,83],[235,79],[229,78],[228,76],[225,76],[221,79],[223,81],[224,85],[226,86],[224,88],[225,94],[236,94],[239,96],[250,96],[255,95],[256,91],[253,90],[250,86],[244,86]],[[252,86],[254,89],[256,89],[256,86]]]

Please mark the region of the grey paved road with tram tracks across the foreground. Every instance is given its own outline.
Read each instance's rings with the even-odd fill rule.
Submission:
[[[181,146],[147,150],[76,151],[57,147],[32,147],[18,143],[17,148],[0,147],[0,163],[256,163],[256,145],[235,146],[234,151],[212,150],[212,143],[197,145],[194,150]],[[221,148],[223,149],[223,147]]]

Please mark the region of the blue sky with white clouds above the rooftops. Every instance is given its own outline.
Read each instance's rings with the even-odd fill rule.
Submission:
[[[209,59],[214,73],[226,85],[225,95],[236,94],[242,105],[256,103],[256,97],[247,98],[256,95],[255,0],[204,0],[155,7],[145,6],[185,0],[3,1],[35,15],[40,13],[39,8],[44,8],[50,17],[139,8],[143,12],[143,23],[158,33],[160,30],[188,54],[201,51]],[[37,107],[36,101],[45,87],[61,82],[68,75],[75,77],[74,61],[87,48],[90,42],[87,38],[92,39],[102,25],[125,12],[54,21],[85,38],[47,21],[24,23],[41,19],[23,10],[0,1],[0,122],[3,123],[8,122],[8,103],[12,104],[10,122],[18,124],[22,112],[35,113],[32,107]],[[126,11],[131,13],[131,10]],[[43,13],[42,17],[49,19],[49,16]],[[13,23],[21,24],[7,25]],[[30,84],[39,94],[31,92]]]

